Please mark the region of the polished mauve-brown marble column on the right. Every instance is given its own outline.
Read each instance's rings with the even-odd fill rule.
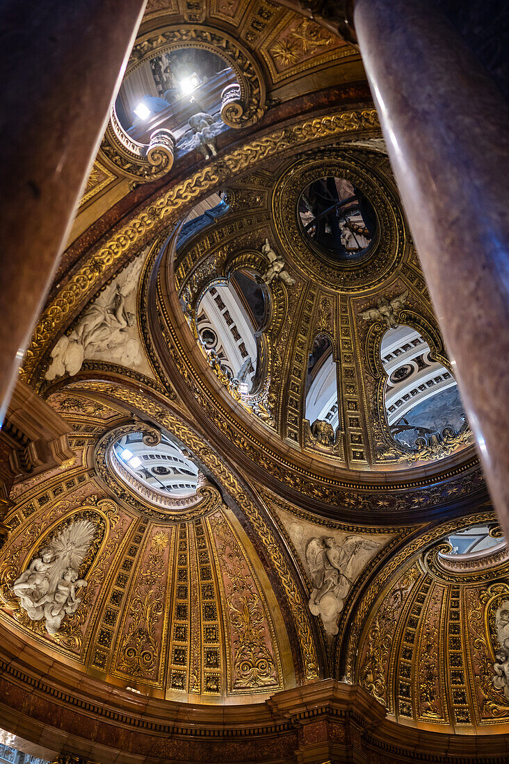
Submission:
[[[509,538],[509,109],[430,0],[356,0],[383,135]]]

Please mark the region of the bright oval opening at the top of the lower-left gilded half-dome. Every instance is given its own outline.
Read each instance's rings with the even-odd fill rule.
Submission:
[[[196,494],[197,466],[165,435],[158,445],[151,446],[143,442],[142,432],[128,432],[112,448],[117,464],[142,486],[165,497]]]

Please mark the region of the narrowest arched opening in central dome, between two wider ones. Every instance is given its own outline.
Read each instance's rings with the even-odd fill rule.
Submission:
[[[317,419],[328,422],[334,432],[339,425],[337,364],[331,340],[318,335],[313,340],[308,358],[305,417],[312,426]]]

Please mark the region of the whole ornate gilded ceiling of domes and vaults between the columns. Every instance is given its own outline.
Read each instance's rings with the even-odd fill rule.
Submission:
[[[73,458],[9,499],[13,713],[40,670],[80,740],[119,703],[163,746],[191,704],[282,730],[278,693],[333,677],[419,734],[507,729],[507,545],[353,46],[148,3],[21,379]]]

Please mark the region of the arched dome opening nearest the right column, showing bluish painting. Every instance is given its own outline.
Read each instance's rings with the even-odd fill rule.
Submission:
[[[393,437],[416,447],[445,427],[458,432],[465,425],[465,410],[451,372],[430,356],[426,340],[406,325],[387,329],[380,346],[387,374],[385,410]]]

